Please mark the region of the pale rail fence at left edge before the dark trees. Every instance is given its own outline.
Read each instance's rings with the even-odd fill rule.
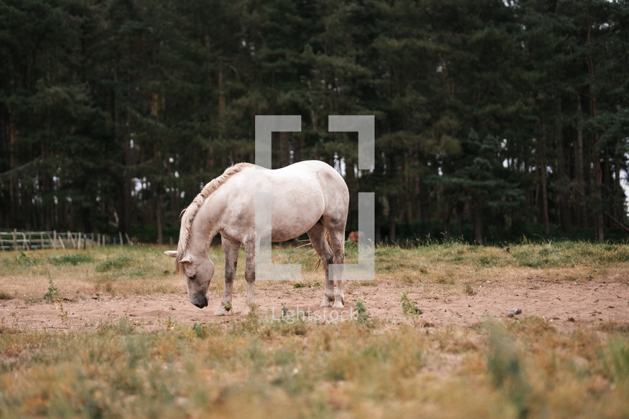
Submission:
[[[119,235],[122,244],[122,235]],[[83,232],[0,231],[1,250],[86,249],[110,243],[107,235]],[[115,237],[113,242],[116,242]],[[127,236],[127,242],[131,243]]]

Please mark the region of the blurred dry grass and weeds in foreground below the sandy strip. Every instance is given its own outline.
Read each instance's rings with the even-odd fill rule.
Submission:
[[[6,418],[615,418],[629,336],[561,334],[534,317],[452,331],[357,322],[229,326],[128,319],[0,334]],[[464,348],[464,349],[462,349]],[[471,390],[473,389],[473,391]]]

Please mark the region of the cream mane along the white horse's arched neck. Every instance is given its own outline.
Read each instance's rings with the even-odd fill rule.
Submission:
[[[227,182],[227,180],[235,175],[238,172],[241,172],[243,169],[247,167],[252,167],[251,163],[236,163],[225,169],[223,175],[212,179],[208,184],[206,184],[201,192],[194,198],[192,203],[182,211],[182,220],[181,220],[181,230],[179,232],[179,244],[177,244],[177,259],[175,259],[175,269],[177,272],[182,271],[182,264],[179,262],[183,259],[188,249],[188,244],[190,242],[190,231],[192,230],[192,221],[194,221],[194,217],[196,213],[199,212],[199,208],[203,205],[205,200],[212,194],[213,191],[216,191],[218,187]]]

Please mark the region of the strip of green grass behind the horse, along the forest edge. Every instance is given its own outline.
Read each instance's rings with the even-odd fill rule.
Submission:
[[[505,252],[509,247],[510,252]],[[274,263],[302,264],[306,271],[314,271],[317,256],[310,258],[310,247],[274,249]],[[148,247],[95,247],[88,250],[0,252],[0,268],[5,275],[40,274],[44,268],[64,270],[71,266],[89,268],[95,273],[115,273],[148,278],[156,273],[173,271],[172,260],[162,254],[163,249]],[[210,256],[221,265],[220,247],[210,249]],[[241,259],[244,251],[241,250]],[[346,263],[358,262],[358,247],[346,243]],[[435,266],[492,267],[574,267],[609,266],[629,262],[629,246],[624,244],[592,244],[587,242],[550,242],[546,244],[505,244],[504,247],[481,247],[457,242],[427,244],[411,249],[379,246],[375,249],[376,272],[380,274],[413,271],[428,275]],[[241,266],[242,264],[239,264]],[[35,267],[33,269],[33,267]],[[25,268],[29,268],[25,271]],[[39,268],[39,269],[37,269]],[[143,272],[141,271],[143,270]]]

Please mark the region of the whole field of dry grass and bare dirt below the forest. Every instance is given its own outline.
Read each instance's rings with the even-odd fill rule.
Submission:
[[[221,249],[202,310],[163,250],[0,253],[0,418],[628,417],[626,245],[377,247],[336,310],[278,248],[247,316],[241,254],[228,317]]]

